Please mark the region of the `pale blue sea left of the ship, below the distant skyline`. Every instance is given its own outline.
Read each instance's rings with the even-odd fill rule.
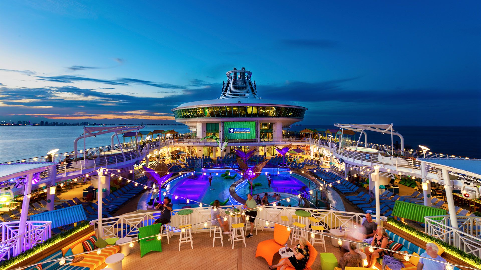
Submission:
[[[186,125],[145,126],[142,131],[159,129],[189,132]],[[74,140],[82,134],[83,126],[0,126],[0,163],[41,157],[52,149],[59,149],[59,153],[73,151]],[[111,136],[112,134],[104,134],[86,138],[85,145],[87,148],[108,146]],[[123,142],[121,136],[119,139]],[[114,142],[118,143],[116,138]],[[78,141],[78,149],[83,148],[84,142],[81,139]]]

